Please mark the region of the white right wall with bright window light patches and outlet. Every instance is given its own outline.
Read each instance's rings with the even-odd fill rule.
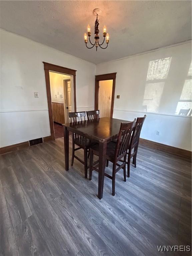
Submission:
[[[153,60],[159,59],[157,67]],[[191,117],[177,115],[178,108],[191,105],[191,42],[96,66],[97,75],[113,72],[113,117],[133,120],[145,114],[147,105],[141,138],[191,150]]]

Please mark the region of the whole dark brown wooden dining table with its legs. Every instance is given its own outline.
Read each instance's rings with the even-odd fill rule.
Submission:
[[[103,197],[104,173],[106,165],[107,143],[115,139],[119,133],[121,123],[131,121],[110,117],[101,117],[92,120],[85,120],[63,124],[64,147],[65,147],[65,170],[69,170],[69,132],[99,143],[99,177],[98,177],[98,198]]]

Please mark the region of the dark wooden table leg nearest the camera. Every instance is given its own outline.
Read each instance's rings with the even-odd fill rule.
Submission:
[[[99,142],[99,184],[98,184],[99,199],[101,199],[103,197],[106,148],[107,148],[106,142]]]

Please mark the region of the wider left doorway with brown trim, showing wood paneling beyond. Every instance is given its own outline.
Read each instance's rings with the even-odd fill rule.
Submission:
[[[70,93],[68,92],[70,110],[74,112],[76,111],[76,70],[46,62],[43,63],[51,131],[50,139],[55,140],[58,136],[63,137],[62,123],[68,122],[68,109],[66,108],[65,101],[67,98],[67,94],[65,93],[66,81],[68,81],[67,85],[70,84]],[[55,84],[54,90],[52,88],[52,83]]]

